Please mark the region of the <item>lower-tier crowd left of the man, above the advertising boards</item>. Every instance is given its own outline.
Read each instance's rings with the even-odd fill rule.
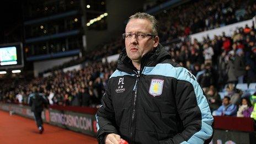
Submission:
[[[0,99],[8,103],[28,103],[33,88],[39,88],[49,100],[50,105],[72,105],[97,107],[104,94],[108,78],[113,73],[116,62],[87,63],[81,70],[52,72],[49,77],[38,77],[30,82],[7,84],[0,91]]]

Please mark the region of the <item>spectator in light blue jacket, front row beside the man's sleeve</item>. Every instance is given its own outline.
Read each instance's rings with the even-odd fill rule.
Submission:
[[[237,106],[230,103],[230,97],[224,97],[222,105],[212,112],[214,116],[236,116]]]

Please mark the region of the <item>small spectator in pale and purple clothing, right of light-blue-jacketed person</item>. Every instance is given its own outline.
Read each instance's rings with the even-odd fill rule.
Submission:
[[[242,98],[242,104],[239,105],[238,111],[237,111],[237,117],[245,117],[250,118],[250,114],[253,111],[253,106],[249,102],[248,98]]]

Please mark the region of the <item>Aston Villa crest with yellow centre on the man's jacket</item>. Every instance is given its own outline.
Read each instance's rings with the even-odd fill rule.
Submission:
[[[153,97],[157,97],[163,92],[163,79],[151,79],[150,90],[149,93],[153,95]]]

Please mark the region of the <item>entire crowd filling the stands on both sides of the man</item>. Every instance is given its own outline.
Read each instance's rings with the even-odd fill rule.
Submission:
[[[242,8],[245,12],[238,17],[236,12]],[[156,16],[160,22],[159,37],[162,41],[169,41],[252,18],[255,12],[256,3],[249,0],[189,2]],[[196,39],[185,40],[165,45],[165,48],[173,61],[196,76],[214,115],[247,117],[252,111],[250,104],[254,104],[250,99],[252,94],[247,96],[246,92],[236,89],[236,84],[256,83],[255,42],[255,29],[245,26],[235,30],[232,36],[223,33],[214,39],[204,38],[202,42]],[[118,54],[124,47],[124,42],[118,39],[102,47],[103,49],[93,51],[84,58],[87,65],[82,70],[66,73],[56,70],[46,78],[39,77],[30,82],[19,81],[10,85],[6,81],[0,82],[3,86],[0,89],[0,100],[26,103],[31,89],[37,86],[50,104],[97,107],[105,84],[116,68],[116,62],[95,61]],[[223,90],[227,94],[222,100],[218,92]]]

